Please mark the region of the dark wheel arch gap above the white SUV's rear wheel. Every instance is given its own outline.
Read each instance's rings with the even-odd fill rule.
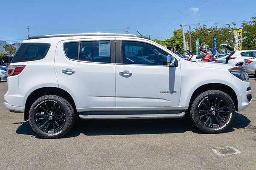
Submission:
[[[65,91],[61,88],[56,88],[56,87],[38,88],[35,91],[32,91],[32,93],[29,94],[29,96],[26,99],[25,110],[24,110],[24,120],[25,121],[29,119],[29,109],[30,109],[31,105],[33,104],[33,102],[35,102],[35,100],[38,99],[39,97],[44,96],[44,95],[48,95],[48,94],[63,97],[68,102],[70,102],[70,104],[72,105],[75,113],[77,112],[74,99],[67,91]]]

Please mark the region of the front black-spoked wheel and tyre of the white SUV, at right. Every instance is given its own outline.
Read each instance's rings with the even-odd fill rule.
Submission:
[[[192,123],[204,133],[224,132],[232,125],[235,114],[233,100],[219,90],[201,93],[195,98],[190,108]]]

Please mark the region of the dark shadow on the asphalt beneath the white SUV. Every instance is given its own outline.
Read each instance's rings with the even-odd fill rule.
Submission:
[[[36,136],[29,125],[29,122],[20,122],[16,133],[23,135]],[[232,127],[224,133],[234,131],[234,128],[240,129],[247,127],[250,120],[236,113],[235,121]],[[15,123],[14,123],[15,124]],[[193,133],[202,133],[197,130],[188,116],[181,119],[129,119],[129,120],[82,120],[77,118],[75,125],[67,135],[62,138],[71,138],[79,136],[81,133],[86,136],[99,135],[138,135],[138,134],[162,134],[162,133],[184,133],[192,131]],[[202,133],[204,134],[204,133]],[[40,138],[36,136],[36,138]]]

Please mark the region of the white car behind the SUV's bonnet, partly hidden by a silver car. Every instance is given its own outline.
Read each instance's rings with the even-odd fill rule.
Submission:
[[[244,59],[251,59],[253,57],[256,57],[256,50],[236,51],[233,55],[229,57],[227,64],[242,66],[244,64]]]

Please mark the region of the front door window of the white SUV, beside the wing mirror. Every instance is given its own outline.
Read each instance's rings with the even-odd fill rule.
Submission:
[[[122,41],[124,64],[167,65],[167,53],[144,42]]]

